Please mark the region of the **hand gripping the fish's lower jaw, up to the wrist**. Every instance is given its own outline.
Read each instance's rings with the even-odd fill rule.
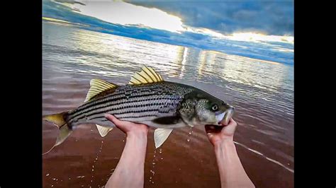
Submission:
[[[228,140],[233,141],[233,134],[235,134],[235,128],[237,123],[232,118],[227,126],[215,126],[206,125],[206,134],[208,135],[209,141],[215,146],[222,141]]]

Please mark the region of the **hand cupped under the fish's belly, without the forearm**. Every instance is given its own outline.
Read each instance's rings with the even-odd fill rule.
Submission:
[[[105,114],[104,116],[106,119],[113,122],[113,124],[115,124],[118,129],[121,129],[121,131],[123,131],[127,136],[133,134],[145,134],[147,136],[148,126],[145,124],[135,124],[133,122],[121,121],[111,114]]]

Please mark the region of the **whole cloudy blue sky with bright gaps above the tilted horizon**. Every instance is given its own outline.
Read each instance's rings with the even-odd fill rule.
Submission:
[[[293,65],[293,1],[43,1],[44,20]]]

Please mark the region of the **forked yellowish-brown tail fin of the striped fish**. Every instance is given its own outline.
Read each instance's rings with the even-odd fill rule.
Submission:
[[[57,127],[59,127],[60,128],[60,134],[58,134],[54,146],[52,146],[52,148],[50,148],[49,151],[43,153],[42,155],[45,155],[45,154],[49,153],[50,151],[52,151],[52,149],[55,148],[55,146],[60,145],[72,133],[72,128],[69,127],[69,125],[65,121],[65,118],[64,118],[65,114],[67,114],[67,112],[61,112],[59,114],[50,114],[50,115],[46,115],[46,116],[43,117],[43,120],[46,120],[48,122],[52,122]]]

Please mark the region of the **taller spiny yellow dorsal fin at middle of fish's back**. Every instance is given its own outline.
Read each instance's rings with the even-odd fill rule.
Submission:
[[[157,74],[154,69],[147,66],[142,66],[142,69],[140,72],[135,72],[130,78],[130,82],[128,84],[130,85],[140,85],[140,84],[146,84],[146,83],[157,83],[164,81],[162,79],[162,76]]]

